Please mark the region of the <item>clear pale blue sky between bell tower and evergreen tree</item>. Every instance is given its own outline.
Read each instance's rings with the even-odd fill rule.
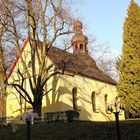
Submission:
[[[116,56],[121,54],[123,22],[129,3],[130,0],[83,0],[77,7],[77,16],[87,25],[87,32],[96,37],[97,43],[108,43]]]

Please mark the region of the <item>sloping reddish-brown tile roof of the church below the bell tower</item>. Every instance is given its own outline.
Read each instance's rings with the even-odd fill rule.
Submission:
[[[86,54],[72,54],[59,48],[52,47],[48,57],[59,68],[65,65],[64,71],[79,74],[91,79],[116,85],[116,81],[103,73],[96,65],[93,58]]]

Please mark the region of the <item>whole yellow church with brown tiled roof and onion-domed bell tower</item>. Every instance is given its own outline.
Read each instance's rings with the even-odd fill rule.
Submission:
[[[116,97],[116,82],[104,74],[96,65],[96,62],[88,52],[88,38],[83,35],[82,23],[75,21],[75,35],[71,39],[73,53],[51,47],[48,54],[48,64],[54,64],[57,69],[65,67],[63,74],[54,75],[46,85],[53,89],[43,97],[42,116],[47,112],[60,112],[76,110],[80,120],[86,121],[110,121],[114,120],[114,114],[108,112],[107,106],[113,104]],[[21,48],[23,59],[29,63],[30,43],[28,39]],[[17,71],[22,63],[18,56],[11,72],[8,75],[8,83],[20,81]],[[54,69],[53,69],[54,70]],[[24,87],[30,93],[28,82]],[[6,115],[17,117],[24,113],[30,106],[19,96],[12,87],[7,87]],[[124,119],[124,114],[120,114]]]

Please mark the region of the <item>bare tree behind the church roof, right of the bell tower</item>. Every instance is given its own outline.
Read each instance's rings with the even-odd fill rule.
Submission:
[[[118,81],[117,58],[114,58],[110,45],[108,43],[99,44],[93,35],[90,36],[92,36],[89,39],[90,55],[105,74]]]

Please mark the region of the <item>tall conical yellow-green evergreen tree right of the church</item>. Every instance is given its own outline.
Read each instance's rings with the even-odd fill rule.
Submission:
[[[140,7],[132,0],[124,22],[118,93],[130,117],[140,117]]]

